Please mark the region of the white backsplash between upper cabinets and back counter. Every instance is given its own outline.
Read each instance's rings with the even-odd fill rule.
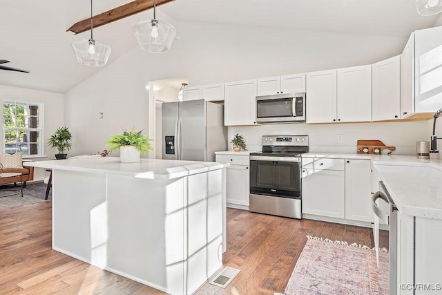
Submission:
[[[287,134],[309,135],[310,151],[314,153],[356,153],[358,140],[381,140],[387,146],[396,146],[394,154],[412,155],[416,153],[417,141],[430,141],[432,120],[352,124],[230,126],[229,146],[231,146],[231,138],[236,133],[243,135],[249,151],[261,150],[262,135]],[[439,133],[442,135],[442,126]],[[342,142],[338,142],[338,135],[342,135],[340,136]],[[440,144],[442,146],[442,140]]]

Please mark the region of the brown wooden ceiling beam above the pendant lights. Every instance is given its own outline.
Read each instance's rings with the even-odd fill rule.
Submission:
[[[156,0],[155,6],[160,6],[164,3],[169,3],[174,0]],[[135,0],[133,2],[118,6],[106,12],[102,12],[99,15],[93,16],[93,27],[104,26],[113,21],[124,19],[124,17],[130,17],[144,10],[153,8],[153,0]],[[75,35],[80,32],[86,32],[90,30],[90,18],[84,19],[74,23],[66,32],[75,32]]]

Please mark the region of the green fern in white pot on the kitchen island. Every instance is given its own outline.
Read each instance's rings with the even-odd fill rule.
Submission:
[[[111,147],[108,153],[119,150],[119,158],[122,163],[140,162],[140,154],[147,155],[152,149],[151,138],[143,134],[143,131],[123,130],[123,133],[111,136],[106,142]]]

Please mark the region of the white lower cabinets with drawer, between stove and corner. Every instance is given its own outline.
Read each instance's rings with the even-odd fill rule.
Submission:
[[[368,224],[371,173],[370,160],[302,157],[302,213]]]

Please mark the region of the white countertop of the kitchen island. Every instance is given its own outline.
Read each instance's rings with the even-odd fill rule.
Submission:
[[[218,170],[229,164],[159,159],[141,159],[139,163],[120,163],[117,157],[93,157],[26,162],[26,166],[164,180]]]

